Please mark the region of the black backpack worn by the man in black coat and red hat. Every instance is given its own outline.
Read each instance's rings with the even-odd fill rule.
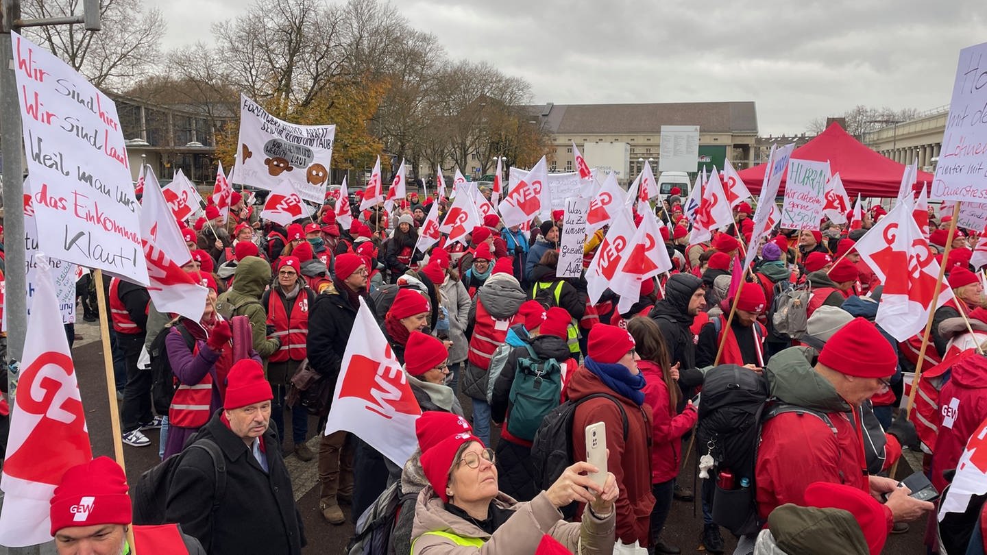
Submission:
[[[157,466],[144,471],[137,479],[131,494],[134,524],[166,523],[165,506],[168,504],[168,492],[172,486],[172,478],[175,476],[179,463],[182,462],[182,457],[189,449],[193,448],[203,449],[212,457],[212,465],[215,469],[212,513],[216,512],[220,500],[226,493],[226,458],[219,449],[219,445],[212,439],[204,437],[195,439],[192,436],[192,442],[186,445],[182,452],[175,453],[161,461]]]

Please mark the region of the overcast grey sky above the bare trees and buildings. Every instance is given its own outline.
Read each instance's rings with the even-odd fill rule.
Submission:
[[[244,0],[148,0],[166,48],[210,40]],[[983,0],[395,0],[451,58],[531,83],[536,103],[754,101],[792,133],[858,104],[949,104],[959,49],[987,41]],[[468,77],[468,76],[467,76]]]

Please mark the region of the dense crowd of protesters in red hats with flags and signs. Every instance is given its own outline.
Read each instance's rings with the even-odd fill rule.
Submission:
[[[131,167],[114,100],[11,41],[27,288],[0,293],[28,306],[0,545],[330,552],[308,465],[347,554],[878,554],[914,529],[909,552],[985,553],[987,43],[959,51],[934,172],[834,122],[684,189],[574,140],[567,171],[426,183],[380,152],[334,184],[336,122],[240,93],[201,193]]]

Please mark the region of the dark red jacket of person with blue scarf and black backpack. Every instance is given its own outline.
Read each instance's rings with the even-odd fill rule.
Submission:
[[[650,543],[650,515],[654,508],[651,495],[651,455],[648,449],[651,432],[651,408],[641,407],[607,387],[585,366],[580,365],[569,380],[569,399],[578,400],[592,393],[607,393],[620,399],[627,413],[627,441],[620,409],[610,399],[590,399],[579,405],[572,418],[572,452],[575,459],[585,460],[586,435],[590,424],[603,422],[607,428],[607,470],[613,472],[620,488],[617,498],[617,539],[624,543]],[[580,507],[580,510],[582,508]]]

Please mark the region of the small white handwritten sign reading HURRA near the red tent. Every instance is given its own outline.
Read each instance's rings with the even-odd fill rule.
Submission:
[[[796,158],[789,160],[789,177],[782,204],[782,227],[819,229],[829,176],[829,162]]]

